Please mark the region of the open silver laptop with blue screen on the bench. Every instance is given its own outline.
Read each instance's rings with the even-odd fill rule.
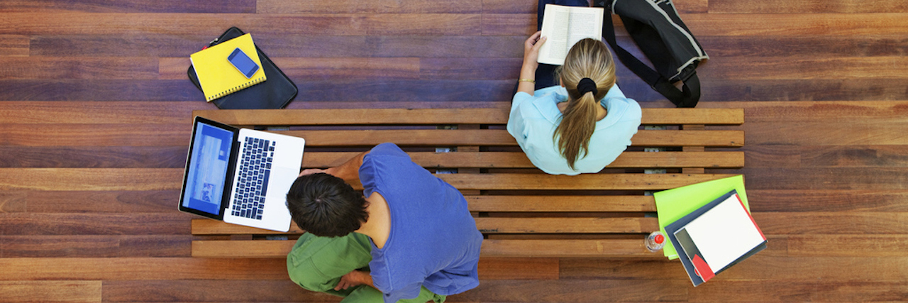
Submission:
[[[287,191],[305,140],[195,117],[180,210],[265,230],[290,230]]]

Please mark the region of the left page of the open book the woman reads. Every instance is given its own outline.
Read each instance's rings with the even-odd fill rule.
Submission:
[[[546,44],[539,48],[540,64],[561,65],[568,54],[568,21],[570,6],[546,5],[546,12],[542,19],[542,36],[546,37]]]

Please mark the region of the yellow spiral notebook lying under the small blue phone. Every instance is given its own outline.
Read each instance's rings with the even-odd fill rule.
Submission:
[[[227,56],[237,47],[249,55],[255,64],[259,64],[259,71],[253,73],[251,78],[247,79],[227,61]],[[202,85],[202,93],[205,94],[205,100],[208,102],[262,83],[267,79],[264,68],[262,68],[262,61],[259,59],[259,52],[256,52],[250,34],[243,34],[216,44],[201,52],[191,54],[189,57],[192,67],[195,68],[195,75],[199,78],[199,84]]]

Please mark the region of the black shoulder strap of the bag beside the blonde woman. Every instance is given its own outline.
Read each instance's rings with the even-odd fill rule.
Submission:
[[[621,60],[621,63],[625,64],[631,72],[637,74],[640,79],[643,79],[650,87],[652,87],[656,92],[661,93],[665,96],[668,101],[675,103],[677,107],[694,107],[696,106],[697,101],[700,100],[700,79],[696,76],[696,71],[690,75],[686,80],[683,80],[684,86],[682,90],[678,90],[675,87],[675,84],[668,82],[668,79],[660,75],[646,64],[637,59],[634,54],[630,54],[623,47],[617,44],[615,38],[615,25],[612,24],[612,17],[609,12],[606,12],[607,18],[602,22],[602,36],[605,38],[609,46],[612,47],[612,50],[617,54],[618,59]],[[665,56],[670,56],[671,54],[664,54]]]

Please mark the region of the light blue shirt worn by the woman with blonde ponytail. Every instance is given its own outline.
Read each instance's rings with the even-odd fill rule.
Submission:
[[[596,122],[587,154],[581,153],[574,162],[576,170],[571,170],[552,140],[561,122],[558,103],[567,101],[568,90],[561,86],[540,89],[533,95],[518,92],[511,104],[508,132],[517,139],[529,161],[542,171],[568,175],[602,171],[630,146],[630,138],[640,126],[640,104],[625,97],[617,84],[612,86],[599,101],[606,108],[606,117]]]

